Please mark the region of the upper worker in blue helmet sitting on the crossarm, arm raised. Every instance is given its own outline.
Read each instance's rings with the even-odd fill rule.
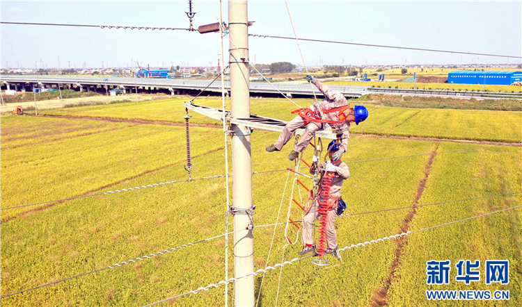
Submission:
[[[297,142],[290,155],[288,155],[290,160],[294,160],[306,146],[308,146],[315,131],[322,129],[324,124],[328,123],[333,126],[335,133],[342,135],[340,137],[342,139],[340,149],[335,154],[335,159],[340,160],[342,154],[347,151],[350,123],[355,122],[359,124],[363,122],[368,117],[368,110],[364,106],[350,108],[350,103],[343,94],[330,90],[330,88],[309,74],[307,74],[305,78],[317,86],[325,98],[322,101],[314,103],[310,108],[299,109],[292,112],[298,113],[299,115],[286,124],[278,140],[267,147],[267,151],[280,151],[290,138],[292,138],[298,128],[308,125],[303,136],[299,139],[299,142]]]

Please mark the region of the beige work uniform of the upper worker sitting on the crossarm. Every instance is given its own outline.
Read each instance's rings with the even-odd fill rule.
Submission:
[[[335,92],[331,90],[328,86],[324,85],[323,83],[319,81],[315,81],[315,86],[324,94],[324,99],[321,101],[317,101],[312,106],[310,106],[310,110],[331,110],[333,108],[339,108],[342,106],[349,106],[350,103],[345,98],[345,95],[341,94],[340,92]],[[339,118],[337,117],[338,112],[330,112],[330,113],[323,113],[323,116],[321,119],[331,120],[331,121],[338,121]],[[320,113],[319,113],[320,115]],[[283,132],[279,135],[278,140],[274,143],[274,146],[281,150],[283,146],[292,138],[295,131],[298,128],[301,128],[305,125],[305,120],[301,116],[296,116],[294,119],[292,119],[290,122],[288,122],[283,129]],[[350,123],[349,122],[342,122],[339,124],[330,124],[332,127],[332,130],[337,134],[342,134],[342,140],[340,148],[343,151],[347,151],[348,149],[348,139],[350,137],[349,128]],[[313,135],[315,131],[318,131],[319,129],[323,128],[322,123],[316,123],[316,122],[310,122],[308,126],[306,127],[305,132],[303,133],[303,136],[299,139],[299,142],[294,147],[294,151],[302,152],[307,146],[308,143],[310,143],[310,140],[312,140]]]

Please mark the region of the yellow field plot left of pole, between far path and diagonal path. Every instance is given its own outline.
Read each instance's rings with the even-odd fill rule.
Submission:
[[[13,128],[13,122],[22,127]],[[182,128],[127,123],[6,117],[2,120],[2,202],[19,206],[97,190],[184,160]],[[203,142],[214,129],[193,128],[193,142]],[[169,132],[170,131],[170,132]],[[118,146],[114,146],[115,144]],[[195,149],[193,154],[219,149]],[[56,149],[59,149],[58,151]],[[151,158],[154,157],[154,158]],[[104,160],[106,163],[93,164]],[[146,163],[143,163],[146,161]],[[122,167],[121,165],[125,165]],[[60,172],[56,172],[56,170]],[[30,178],[26,174],[31,174]],[[8,179],[8,180],[6,180]],[[31,188],[27,186],[31,183]],[[49,184],[56,188],[49,188]],[[22,184],[23,183],[23,184]],[[5,220],[28,208],[2,213]]]

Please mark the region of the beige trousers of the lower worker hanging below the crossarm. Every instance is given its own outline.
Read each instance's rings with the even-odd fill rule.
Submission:
[[[310,212],[305,215],[305,217],[303,217],[303,244],[314,243],[313,222],[319,217],[317,206],[317,201],[315,201],[313,207],[310,209]],[[335,227],[333,227],[335,217],[337,217],[337,208],[326,211],[326,242],[329,249],[337,248],[337,233],[335,233]],[[316,231],[319,229],[319,226],[319,222],[317,222]]]

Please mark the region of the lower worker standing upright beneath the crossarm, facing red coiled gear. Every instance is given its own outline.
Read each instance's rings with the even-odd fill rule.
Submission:
[[[305,208],[306,215],[303,217],[302,238],[302,242],[305,246],[298,254],[302,256],[308,254],[310,251],[315,251],[315,244],[313,244],[313,222],[319,218],[319,215],[321,214],[319,213],[319,210],[321,209],[319,206],[322,206],[324,209],[323,211],[326,212],[324,214],[326,214],[326,242],[328,246],[325,253],[332,254],[335,258],[341,260],[341,255],[339,254],[337,247],[337,234],[335,233],[333,222],[335,222],[335,217],[337,217],[338,199],[341,197],[341,186],[345,179],[348,179],[350,176],[350,171],[346,163],[341,162],[340,158],[335,158],[335,154],[340,151],[341,144],[338,141],[333,140],[330,142],[328,147],[328,156],[330,160],[326,160],[326,162],[317,165],[319,157],[314,156],[313,164],[310,167],[310,173],[312,174],[315,174],[316,167],[319,168],[321,179],[319,181],[319,191],[317,192],[317,195],[326,194],[326,197],[325,199],[315,197],[315,201],[311,208]],[[327,177],[331,178],[330,186],[324,184]],[[325,191],[325,189],[329,190]]]

